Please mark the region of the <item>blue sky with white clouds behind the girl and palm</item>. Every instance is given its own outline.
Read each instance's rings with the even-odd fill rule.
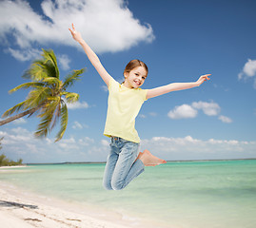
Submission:
[[[192,82],[200,87],[148,100],[136,120],[141,150],[166,160],[256,158],[256,2],[78,0],[0,2],[0,113],[23,101],[28,91],[8,91],[41,48],[52,48],[61,75],[87,67],[69,91],[80,94],[69,106],[61,142],[55,131],[36,140],[38,120],[1,126],[3,149],[25,162],[106,161],[103,136],[108,91],[82,48],[69,34],[73,22],[110,75],[123,80],[129,60],[147,63],[143,88]]]

